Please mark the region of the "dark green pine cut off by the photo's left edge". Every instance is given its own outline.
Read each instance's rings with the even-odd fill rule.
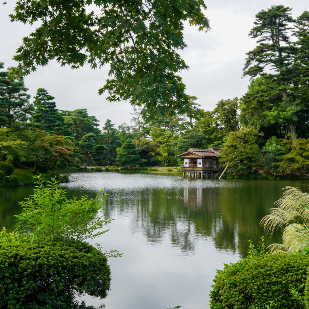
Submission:
[[[3,69],[3,62],[0,62],[0,69]],[[9,82],[8,74],[0,72],[0,127],[15,131],[27,124],[33,105],[29,103],[30,95],[23,81]]]

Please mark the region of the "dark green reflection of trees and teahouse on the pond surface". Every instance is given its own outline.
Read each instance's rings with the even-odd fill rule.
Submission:
[[[253,183],[253,182],[252,182]],[[115,210],[130,217],[132,231],[143,231],[151,243],[168,235],[172,245],[184,254],[194,251],[197,238],[211,240],[218,249],[229,249],[242,256],[248,251],[248,239],[254,243],[264,235],[260,219],[268,214],[267,186],[256,188],[173,188],[117,192],[106,204],[106,215]],[[273,199],[278,192],[272,192]],[[279,191],[279,196],[281,195]],[[266,244],[280,242],[280,233]]]

